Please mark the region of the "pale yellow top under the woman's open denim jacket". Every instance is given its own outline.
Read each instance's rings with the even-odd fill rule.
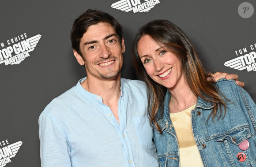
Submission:
[[[203,167],[192,132],[190,111],[195,107],[196,104],[184,111],[170,113],[180,147],[180,167]]]

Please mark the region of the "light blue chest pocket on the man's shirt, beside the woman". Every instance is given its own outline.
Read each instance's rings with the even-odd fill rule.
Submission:
[[[140,145],[153,145],[153,128],[150,125],[148,117],[134,117],[132,118],[139,139]]]

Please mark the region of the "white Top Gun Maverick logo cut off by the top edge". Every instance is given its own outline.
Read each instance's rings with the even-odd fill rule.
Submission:
[[[111,5],[111,7],[121,10],[121,11],[133,11],[145,12],[149,11],[155,4],[159,4],[159,0],[145,0],[146,2],[141,3],[140,0],[120,0]]]

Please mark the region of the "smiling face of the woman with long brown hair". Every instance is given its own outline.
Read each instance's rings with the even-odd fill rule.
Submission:
[[[166,88],[173,88],[184,82],[181,60],[158,45],[149,35],[140,38],[137,51],[147,74],[155,82]]]

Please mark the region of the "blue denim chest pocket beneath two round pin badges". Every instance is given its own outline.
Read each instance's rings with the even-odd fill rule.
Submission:
[[[255,143],[252,140],[251,133],[247,125],[228,130],[220,136],[215,137],[214,140],[217,142],[218,150],[225,166],[247,167],[256,163],[256,158],[253,153]],[[248,140],[250,144],[249,148],[247,150],[241,150],[239,145],[245,140]],[[243,152],[246,156],[245,161],[243,162],[240,162],[237,159],[237,155],[240,152]]]

